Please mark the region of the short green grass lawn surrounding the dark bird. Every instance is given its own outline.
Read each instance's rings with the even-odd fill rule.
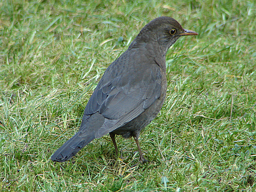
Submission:
[[[53,163],[104,70],[158,16],[199,35],[166,56],[166,102],[140,137],[150,162],[131,168],[136,144],[118,137],[116,163],[104,136]],[[256,190],[254,0],[7,0],[0,38],[0,191]]]

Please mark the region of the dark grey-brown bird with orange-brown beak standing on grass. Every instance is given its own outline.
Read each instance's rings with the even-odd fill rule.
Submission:
[[[51,160],[67,161],[95,138],[109,134],[117,156],[115,136],[133,137],[140,162],[147,162],[138,138],[165,101],[166,52],[181,36],[194,35],[198,33],[182,28],[168,16],[146,24],[105,70],[84,109],[78,132],[52,154]]]

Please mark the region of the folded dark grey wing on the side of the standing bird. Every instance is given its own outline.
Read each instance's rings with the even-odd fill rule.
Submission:
[[[126,80],[124,83],[124,79]],[[160,70],[144,71],[140,78],[118,76],[111,82],[98,84],[85,108],[84,115],[99,112],[104,125],[95,136],[99,138],[139,116],[161,93]],[[133,79],[137,79],[133,81]]]

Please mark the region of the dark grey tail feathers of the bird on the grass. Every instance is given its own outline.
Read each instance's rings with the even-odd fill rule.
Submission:
[[[94,134],[81,136],[78,131],[70,140],[64,143],[52,156],[52,161],[64,162],[75,156],[84,146],[94,140]]]

